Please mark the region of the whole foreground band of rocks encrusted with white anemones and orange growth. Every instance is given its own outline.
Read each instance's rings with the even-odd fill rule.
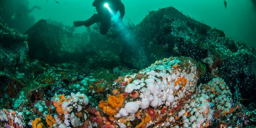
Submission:
[[[232,94],[225,81],[214,78],[207,84],[202,84],[198,83],[198,76],[198,68],[192,58],[164,58],[138,73],[119,77],[111,85],[110,88],[113,88],[113,91],[108,92],[110,94],[107,95],[107,100],[102,98],[103,100],[97,104],[99,108],[94,108],[96,106],[93,101],[94,96],[87,97],[79,92],[67,96],[64,94],[53,96],[51,101],[38,99],[30,104],[32,106],[30,111],[27,110],[28,106],[22,108],[22,104],[17,108],[28,115],[25,116],[26,118],[31,119],[34,115],[41,118],[40,127],[52,125],[52,127],[84,126],[87,128],[200,128],[218,124],[220,123],[218,121],[227,121],[227,119],[230,119],[231,123],[225,123],[225,125],[240,123],[236,122],[232,114],[239,113],[240,109],[245,113],[245,109],[240,104],[232,106]],[[87,81],[90,80],[87,79]],[[19,105],[19,101],[27,102],[24,100],[25,96],[19,97],[15,104]],[[15,127],[26,120],[25,117],[19,116],[16,119],[20,119],[17,124],[15,122],[17,115],[8,115],[19,113],[19,111],[9,111],[0,110],[1,125]],[[242,114],[238,118],[240,117],[243,117]],[[246,119],[239,119],[239,121],[246,121]],[[248,115],[248,119],[252,118]],[[26,126],[27,124],[22,123],[21,127]]]

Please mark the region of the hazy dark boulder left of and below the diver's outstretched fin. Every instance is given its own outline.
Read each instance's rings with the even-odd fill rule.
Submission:
[[[28,29],[29,58],[58,63],[78,60],[81,49],[72,34],[61,27],[39,20]]]

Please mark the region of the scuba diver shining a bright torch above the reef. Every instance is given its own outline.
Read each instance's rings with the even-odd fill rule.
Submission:
[[[97,14],[94,14],[88,20],[74,21],[74,26],[86,26],[89,27],[96,22],[100,23],[100,33],[106,35],[111,25],[111,17],[116,15],[116,12],[120,12],[117,22],[114,26],[121,23],[125,15],[125,6],[120,0],[94,0],[93,6],[96,7]]]

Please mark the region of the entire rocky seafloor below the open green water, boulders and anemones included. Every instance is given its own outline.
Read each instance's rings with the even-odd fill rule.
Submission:
[[[0,18],[0,126],[256,127],[255,49],[172,7],[98,29]]]

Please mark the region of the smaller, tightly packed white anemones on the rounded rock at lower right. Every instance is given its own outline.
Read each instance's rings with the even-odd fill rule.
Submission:
[[[216,111],[223,115],[229,112],[231,102],[231,92],[223,79],[214,78],[207,84],[200,84],[187,101],[189,105],[185,104],[183,107],[183,113],[188,112],[189,116],[179,113],[183,128],[208,127]]]

